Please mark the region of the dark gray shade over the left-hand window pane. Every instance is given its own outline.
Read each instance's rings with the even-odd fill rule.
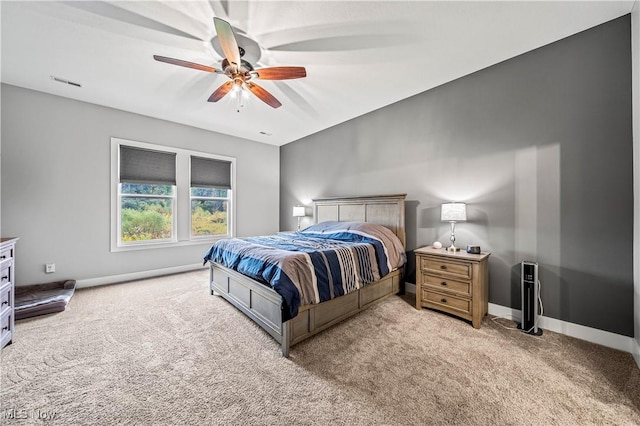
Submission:
[[[176,154],[120,145],[120,182],[176,184]]]

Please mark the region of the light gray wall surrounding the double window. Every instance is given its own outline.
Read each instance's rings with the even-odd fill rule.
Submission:
[[[110,252],[111,137],[235,157],[237,234],[278,230],[278,147],[9,85],[1,111],[2,235],[20,237],[18,285],[201,263],[208,244]]]

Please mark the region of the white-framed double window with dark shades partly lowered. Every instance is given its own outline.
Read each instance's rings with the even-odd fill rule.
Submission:
[[[117,138],[111,159],[111,251],[234,234],[235,159]]]

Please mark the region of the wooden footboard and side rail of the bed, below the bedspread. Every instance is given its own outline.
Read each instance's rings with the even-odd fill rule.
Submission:
[[[273,289],[217,263],[210,265],[211,294],[222,296],[255,321],[280,343],[285,357],[296,343],[398,293],[403,279],[401,269],[393,271],[353,293],[302,306],[295,318],[282,322],[282,297]]]

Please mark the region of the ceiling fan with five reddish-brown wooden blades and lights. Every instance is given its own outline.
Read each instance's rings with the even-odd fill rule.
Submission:
[[[271,93],[251,80],[290,80],[303,78],[307,76],[306,69],[304,67],[290,66],[254,69],[249,62],[242,59],[244,49],[238,46],[238,42],[233,34],[231,25],[220,18],[213,18],[213,22],[216,28],[216,33],[218,34],[218,39],[220,40],[220,46],[222,47],[222,51],[225,56],[225,59],[223,59],[220,64],[222,69],[196,64],[195,62],[183,61],[181,59],[168,58],[166,56],[153,55],[153,58],[156,61],[193,68],[200,71],[224,74],[229,77],[230,81],[227,81],[218,87],[211,96],[209,96],[208,102],[218,102],[232,90],[242,90],[243,88],[247,88],[267,105],[273,108],[282,106],[280,101],[278,101]],[[241,99],[240,94],[238,99]]]

